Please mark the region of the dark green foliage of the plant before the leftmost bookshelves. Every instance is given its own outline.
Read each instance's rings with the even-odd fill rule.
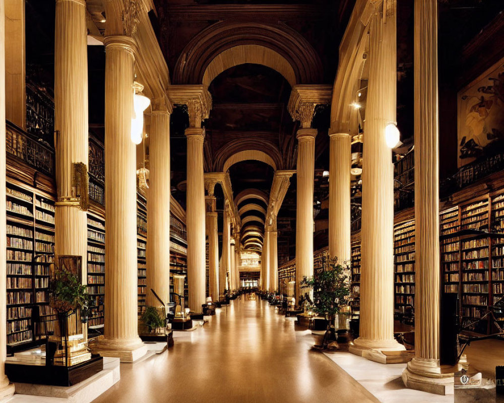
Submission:
[[[68,313],[88,306],[90,302],[87,286],[82,285],[81,279],[65,266],[55,268],[48,290],[51,306],[58,313]]]

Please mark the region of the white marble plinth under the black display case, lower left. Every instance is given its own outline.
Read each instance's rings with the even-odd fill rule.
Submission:
[[[50,386],[16,383],[16,394],[9,403],[90,403],[120,379],[118,358],[103,358],[103,371],[76,385]]]

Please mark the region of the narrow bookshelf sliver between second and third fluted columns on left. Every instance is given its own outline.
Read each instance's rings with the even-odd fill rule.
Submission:
[[[138,314],[142,315],[147,304],[147,199],[137,192],[137,259],[138,259]]]

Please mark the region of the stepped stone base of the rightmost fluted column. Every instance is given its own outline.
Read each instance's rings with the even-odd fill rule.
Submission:
[[[423,392],[447,395],[454,394],[454,374],[441,373],[437,360],[422,360],[414,357],[402,374],[407,388]]]

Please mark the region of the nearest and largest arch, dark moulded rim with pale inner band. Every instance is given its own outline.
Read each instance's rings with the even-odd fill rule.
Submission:
[[[218,74],[242,63],[264,64],[291,85],[320,83],[324,77],[318,53],[287,24],[219,21],[185,45],[175,63],[173,84],[208,86]]]

